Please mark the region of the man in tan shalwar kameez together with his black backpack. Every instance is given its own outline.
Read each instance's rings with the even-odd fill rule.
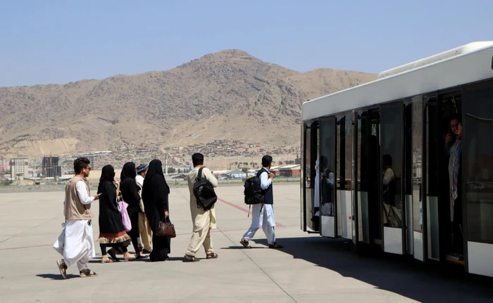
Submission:
[[[211,198],[211,195],[216,196],[213,193],[213,188],[218,186],[218,179],[211,173],[210,169],[204,167],[204,155],[201,153],[194,153],[192,162],[194,168],[188,174],[188,188],[194,229],[183,262],[199,261],[195,254],[201,246],[204,246],[206,250],[207,259],[217,259],[218,257],[218,254],[214,252],[211,240],[211,228],[217,228],[216,209],[214,209],[216,200]],[[196,183],[201,186],[196,186]]]

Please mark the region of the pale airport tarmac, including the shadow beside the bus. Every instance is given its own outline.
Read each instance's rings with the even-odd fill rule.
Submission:
[[[72,266],[67,279],[52,248],[62,230],[63,191],[0,193],[0,302],[492,302],[492,279],[389,254],[361,255],[344,240],[304,233],[299,183],[274,186],[282,250],[269,249],[262,230],[252,249],[242,248],[239,240],[251,222],[243,187],[220,186],[212,233],[219,257],[205,259],[201,251],[200,262],[182,262],[192,231],[189,191],[172,187],[177,237],[169,260],[101,264],[96,243],[89,267],[99,276],[79,278]],[[98,202],[92,209],[96,239]]]

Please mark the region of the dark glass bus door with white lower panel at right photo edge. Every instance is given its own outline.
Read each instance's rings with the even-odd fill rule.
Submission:
[[[466,270],[493,276],[493,81],[463,86],[463,257]],[[457,209],[458,210],[458,209]]]

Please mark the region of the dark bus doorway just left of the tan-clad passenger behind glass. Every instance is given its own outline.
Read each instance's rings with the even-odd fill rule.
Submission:
[[[355,120],[355,200],[358,242],[381,245],[380,112],[362,110]]]

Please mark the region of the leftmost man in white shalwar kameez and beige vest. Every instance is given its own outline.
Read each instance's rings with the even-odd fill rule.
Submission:
[[[65,184],[63,231],[55,241],[54,249],[63,256],[56,261],[63,278],[67,278],[68,266],[77,264],[81,277],[97,276],[87,264],[96,256],[92,237],[91,202],[99,199],[89,191],[89,160],[85,157],[74,161],[75,176]]]

